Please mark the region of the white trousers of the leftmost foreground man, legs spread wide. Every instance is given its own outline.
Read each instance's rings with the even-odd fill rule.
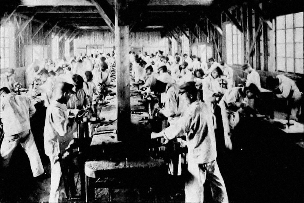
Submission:
[[[4,159],[3,166],[7,167],[9,165],[9,161],[18,143],[21,144],[29,157],[33,177],[43,174],[43,166],[31,130],[26,130],[11,136],[5,136],[4,134],[0,149],[1,157]]]

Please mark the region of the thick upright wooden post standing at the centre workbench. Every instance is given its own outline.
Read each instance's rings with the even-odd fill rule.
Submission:
[[[115,48],[117,80],[117,138],[127,141],[131,124],[129,26],[124,21],[127,0],[115,0]]]

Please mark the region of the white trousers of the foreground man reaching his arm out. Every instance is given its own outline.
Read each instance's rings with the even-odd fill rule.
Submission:
[[[204,201],[204,183],[210,180],[213,200],[228,202],[225,183],[216,160],[209,163],[193,163],[188,160],[188,177],[185,183],[185,202]]]

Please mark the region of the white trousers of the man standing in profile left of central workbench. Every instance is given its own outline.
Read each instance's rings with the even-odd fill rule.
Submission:
[[[62,192],[63,198],[67,198],[64,187],[62,187],[62,174],[61,167],[58,161],[58,156],[52,156],[50,158],[51,163],[51,187],[50,187],[50,197],[49,202],[58,202],[60,201],[60,192]]]

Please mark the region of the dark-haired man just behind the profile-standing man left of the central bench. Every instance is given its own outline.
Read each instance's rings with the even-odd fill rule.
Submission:
[[[67,101],[67,108],[81,110],[87,105],[88,102],[87,95],[83,89],[84,80],[80,75],[77,74],[75,74],[72,79],[74,81],[76,91]]]

